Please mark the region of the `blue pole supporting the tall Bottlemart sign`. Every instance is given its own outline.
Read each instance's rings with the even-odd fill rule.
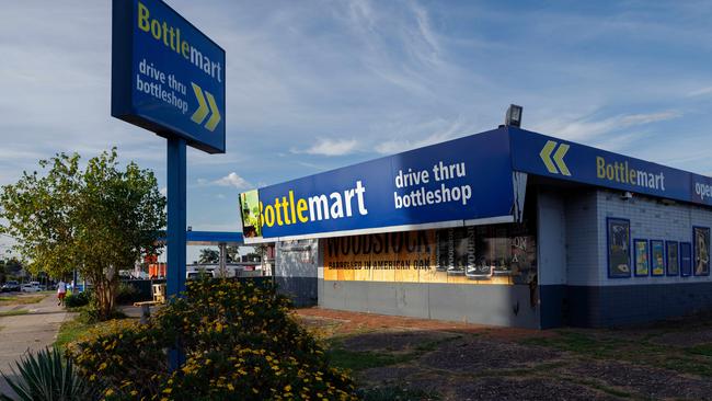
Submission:
[[[166,295],[185,291],[186,159],[185,139],[168,139]]]

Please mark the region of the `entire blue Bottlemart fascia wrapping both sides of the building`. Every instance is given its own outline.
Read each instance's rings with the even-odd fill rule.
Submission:
[[[245,193],[245,238],[513,221],[515,172],[712,205],[710,177],[502,127]]]

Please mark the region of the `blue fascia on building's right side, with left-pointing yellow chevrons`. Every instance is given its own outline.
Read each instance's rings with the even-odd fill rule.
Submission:
[[[712,205],[712,179],[508,127],[515,171]]]

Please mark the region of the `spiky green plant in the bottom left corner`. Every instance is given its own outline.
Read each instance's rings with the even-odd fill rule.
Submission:
[[[34,400],[92,400],[97,392],[82,376],[77,374],[71,359],[62,360],[57,348],[43,350],[36,354],[27,354],[16,363],[18,371],[12,369],[10,378],[2,377],[22,401]],[[0,400],[11,401],[5,394]]]

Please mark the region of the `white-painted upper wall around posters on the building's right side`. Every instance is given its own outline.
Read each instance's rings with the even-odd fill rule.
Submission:
[[[540,215],[544,208],[555,207],[556,202],[553,202],[553,196],[562,199],[565,218],[562,233],[565,236],[564,283],[577,286],[616,286],[712,282],[710,276],[635,277],[631,275],[630,278],[609,278],[606,238],[606,219],[609,217],[630,220],[631,248],[634,239],[692,243],[693,226],[712,228],[711,209],[689,204],[664,205],[657,198],[638,194],[632,199],[622,199],[620,195],[620,192],[596,188],[561,191],[558,195],[552,195],[551,191],[540,193]],[[555,214],[549,211],[546,215]],[[540,236],[553,236],[561,230],[551,219],[540,219],[539,225],[543,225],[539,228]],[[554,247],[556,241],[541,238],[539,243],[542,247]],[[542,249],[540,256],[556,251],[553,248]],[[562,270],[543,262],[546,262],[544,257],[540,257],[540,277],[547,282],[541,284],[556,284]],[[631,265],[632,263],[631,256]]]

